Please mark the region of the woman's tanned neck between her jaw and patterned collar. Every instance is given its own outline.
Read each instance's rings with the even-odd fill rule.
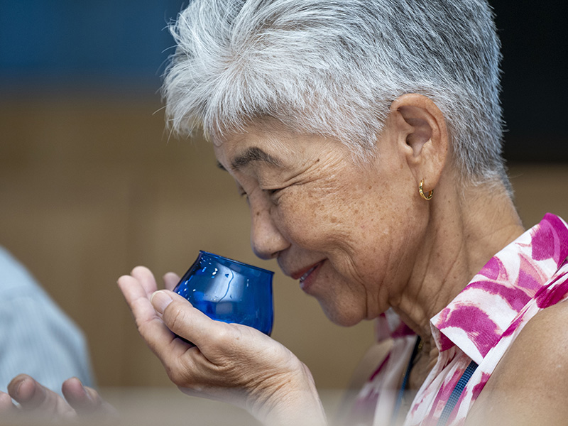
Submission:
[[[524,231],[505,188],[496,186],[471,185],[463,196],[455,189],[454,181],[440,180],[428,206],[427,230],[410,278],[391,300],[400,318],[432,348],[431,358],[437,352],[430,318]]]

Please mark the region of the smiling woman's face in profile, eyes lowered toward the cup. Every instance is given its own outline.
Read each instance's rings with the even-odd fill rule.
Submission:
[[[364,164],[338,141],[285,131],[215,146],[249,202],[253,251],[278,258],[337,324],[376,317],[408,280],[418,197],[396,145],[384,135]]]

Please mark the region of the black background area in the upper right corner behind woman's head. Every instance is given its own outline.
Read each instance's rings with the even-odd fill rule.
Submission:
[[[505,157],[568,161],[568,2],[490,3],[503,44]]]

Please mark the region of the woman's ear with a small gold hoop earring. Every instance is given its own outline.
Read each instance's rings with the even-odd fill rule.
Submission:
[[[433,190],[447,161],[449,138],[444,114],[429,97],[404,94],[391,104],[398,143],[416,180]]]

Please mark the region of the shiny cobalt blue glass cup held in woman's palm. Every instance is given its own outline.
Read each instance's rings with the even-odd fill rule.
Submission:
[[[200,251],[174,291],[217,321],[248,325],[272,332],[274,273]]]

